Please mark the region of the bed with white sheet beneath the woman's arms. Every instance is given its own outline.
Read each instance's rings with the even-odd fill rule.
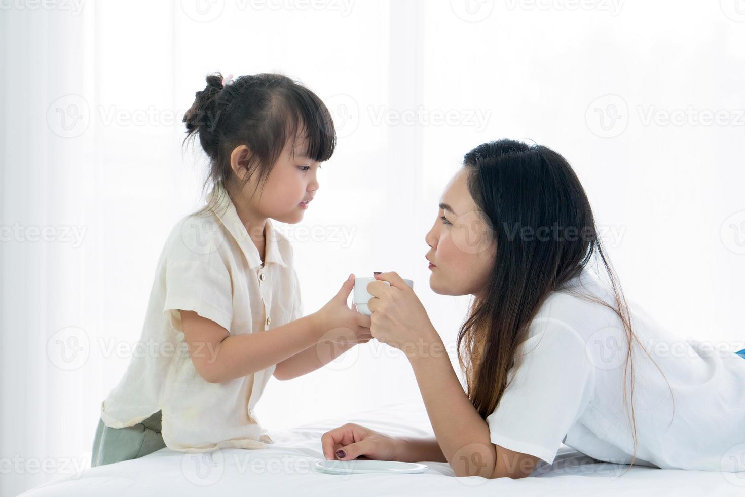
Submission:
[[[528,478],[455,478],[447,463],[427,463],[416,475],[327,475],[320,436],[343,422],[394,435],[431,434],[421,402],[385,405],[343,420],[325,420],[272,432],[270,449],[227,449],[212,455],[162,449],[136,460],[98,466],[51,481],[24,497],[133,496],[745,496],[745,472],[683,471],[603,463],[562,446],[557,460],[541,462]]]

